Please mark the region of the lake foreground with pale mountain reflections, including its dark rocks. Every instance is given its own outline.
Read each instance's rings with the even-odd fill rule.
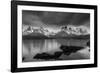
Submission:
[[[89,59],[87,41],[75,39],[23,40],[22,61]]]

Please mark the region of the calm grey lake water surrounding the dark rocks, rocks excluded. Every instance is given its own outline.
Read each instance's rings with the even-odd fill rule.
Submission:
[[[75,53],[71,53],[69,56],[61,55],[60,58],[65,60],[74,59],[89,59],[90,53],[88,51],[89,47],[86,46],[88,40],[73,40],[73,39],[33,39],[33,40],[23,40],[22,56],[23,62],[30,61],[42,61],[41,59],[34,59],[33,57],[38,53],[46,52],[53,55],[57,51],[62,51],[60,49],[61,45],[64,46],[82,46],[82,50],[78,50]]]

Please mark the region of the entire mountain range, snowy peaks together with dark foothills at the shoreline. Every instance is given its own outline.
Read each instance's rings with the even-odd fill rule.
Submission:
[[[23,32],[23,37],[26,38],[89,38],[90,34],[87,29],[63,26],[58,32],[51,32],[43,27],[34,28],[29,26]]]

